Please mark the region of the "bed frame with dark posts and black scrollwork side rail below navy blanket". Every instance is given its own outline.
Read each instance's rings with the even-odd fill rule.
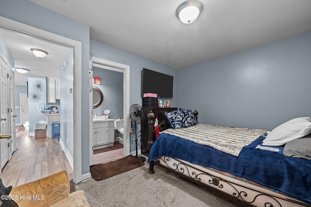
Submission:
[[[197,120],[198,112],[195,110],[193,114]],[[148,113],[147,118],[149,124],[148,145],[150,151],[155,141],[155,114],[151,111]],[[226,198],[240,203],[243,206],[311,207],[310,204],[304,203],[287,195],[225,176],[221,173],[214,172],[200,165],[192,164],[181,159],[163,156],[153,160],[149,163],[150,174],[155,173],[154,165],[173,171],[179,176],[209,190],[219,192]]]

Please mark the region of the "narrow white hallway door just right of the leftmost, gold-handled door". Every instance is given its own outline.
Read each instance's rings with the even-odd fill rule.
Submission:
[[[15,115],[15,75],[14,70],[10,65],[10,73],[9,73],[9,82],[10,82],[10,135],[11,137],[11,144],[9,150],[9,159],[12,156],[12,153],[15,151],[15,139],[16,139],[16,115]]]

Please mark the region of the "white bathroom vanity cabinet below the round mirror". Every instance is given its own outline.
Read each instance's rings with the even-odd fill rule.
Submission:
[[[115,120],[93,120],[93,149],[111,147],[115,141]]]

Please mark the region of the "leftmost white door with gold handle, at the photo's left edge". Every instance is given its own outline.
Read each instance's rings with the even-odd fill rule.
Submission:
[[[6,60],[0,56],[0,134],[9,134],[9,87],[8,87],[9,65]],[[10,139],[1,139],[1,165],[2,169],[9,160],[9,141]]]

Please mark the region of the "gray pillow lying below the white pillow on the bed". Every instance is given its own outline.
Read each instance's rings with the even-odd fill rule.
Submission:
[[[311,159],[311,134],[287,142],[283,153],[285,156]]]

